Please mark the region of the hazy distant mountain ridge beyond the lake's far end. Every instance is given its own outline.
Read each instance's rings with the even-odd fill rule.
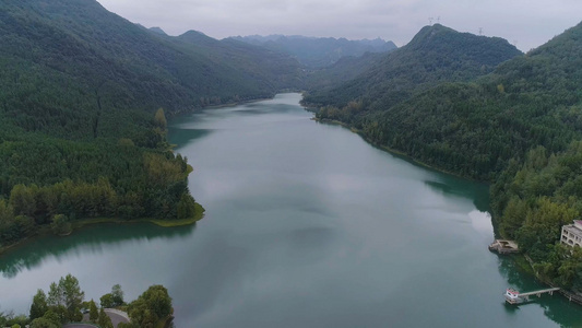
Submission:
[[[381,38],[348,40],[300,35],[251,35],[230,38],[290,55],[309,68],[328,67],[343,57],[359,57],[366,52],[388,52],[396,48],[393,42],[385,42]]]

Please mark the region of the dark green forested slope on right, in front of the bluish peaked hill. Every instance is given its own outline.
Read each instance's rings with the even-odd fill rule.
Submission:
[[[510,159],[523,159],[535,145],[561,151],[579,133],[579,30],[501,63],[473,83],[440,83],[371,110],[363,101],[364,112],[348,121],[373,142],[490,180]],[[349,108],[344,113],[354,110]]]

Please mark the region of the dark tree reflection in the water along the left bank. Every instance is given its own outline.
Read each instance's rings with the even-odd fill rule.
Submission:
[[[23,269],[38,266],[49,256],[59,259],[70,251],[103,253],[104,245],[120,245],[128,241],[183,238],[191,235],[194,229],[194,225],[161,227],[151,223],[104,223],[86,226],[67,237],[40,236],[0,256],[0,272],[4,278],[13,278]]]

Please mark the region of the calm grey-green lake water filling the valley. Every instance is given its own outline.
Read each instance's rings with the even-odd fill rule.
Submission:
[[[177,327],[582,327],[494,239],[487,186],[317,124],[298,94],[180,117],[170,127],[206,216],[190,227],[97,225],[0,257],[0,311],[72,273],[86,298],[164,284]]]

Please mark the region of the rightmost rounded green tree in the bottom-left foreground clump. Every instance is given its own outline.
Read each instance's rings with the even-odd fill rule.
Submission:
[[[158,320],[165,319],[171,313],[171,297],[163,285],[150,286],[128,307],[131,321],[139,327],[155,327]]]

